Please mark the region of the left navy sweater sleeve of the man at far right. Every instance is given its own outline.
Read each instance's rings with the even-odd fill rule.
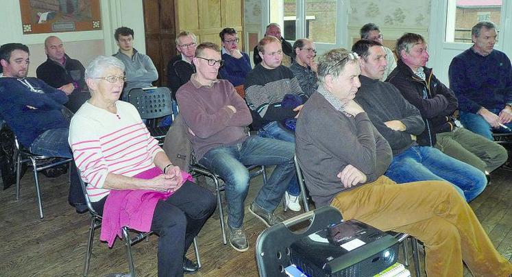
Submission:
[[[465,64],[459,57],[453,58],[448,69],[450,79],[450,88],[452,88],[457,99],[459,99],[459,108],[465,112],[476,113],[482,106],[467,97],[473,92],[471,82],[467,80]]]

